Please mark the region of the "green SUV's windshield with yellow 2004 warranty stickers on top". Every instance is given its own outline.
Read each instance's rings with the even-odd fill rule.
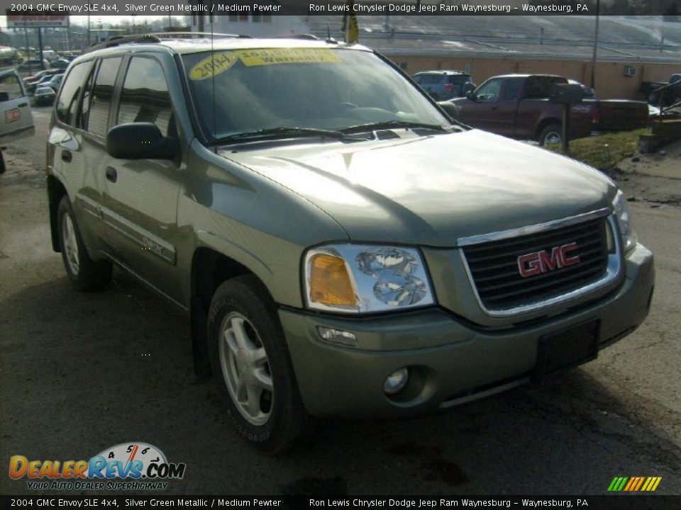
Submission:
[[[183,56],[199,122],[219,140],[276,128],[344,130],[372,123],[450,125],[370,52],[272,48]]]

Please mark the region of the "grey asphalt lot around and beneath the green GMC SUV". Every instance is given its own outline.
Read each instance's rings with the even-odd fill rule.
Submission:
[[[329,421],[304,448],[270,457],[233,431],[214,383],[194,378],[182,312],[120,270],[101,293],[72,289],[50,246],[48,109],[34,112],[37,135],[6,149],[0,176],[0,494],[68,493],[11,480],[11,455],[87,460],[135,441],[186,463],[162,494],[586,495],[606,494],[615,476],[659,476],[655,494],[681,494],[673,201],[632,203],[655,254],[655,297],[646,323],[597,360],[447,414]],[[636,176],[626,179],[625,190]]]

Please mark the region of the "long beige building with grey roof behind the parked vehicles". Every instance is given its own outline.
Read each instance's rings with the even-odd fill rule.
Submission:
[[[594,16],[358,16],[360,43],[409,74],[469,72],[476,84],[497,74],[559,74],[591,84]],[[342,40],[341,16],[309,16],[311,30]],[[681,72],[681,23],[660,17],[601,16],[594,72],[600,98],[641,99],[642,81]]]

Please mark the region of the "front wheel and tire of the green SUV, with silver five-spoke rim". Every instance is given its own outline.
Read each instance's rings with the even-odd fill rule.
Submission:
[[[208,317],[211,367],[243,438],[282,453],[314,433],[272,298],[255,276],[218,287]]]

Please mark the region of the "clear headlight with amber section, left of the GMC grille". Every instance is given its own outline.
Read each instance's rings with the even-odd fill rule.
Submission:
[[[362,313],[433,304],[421,254],[402,246],[333,244],[311,249],[304,261],[309,308]]]

